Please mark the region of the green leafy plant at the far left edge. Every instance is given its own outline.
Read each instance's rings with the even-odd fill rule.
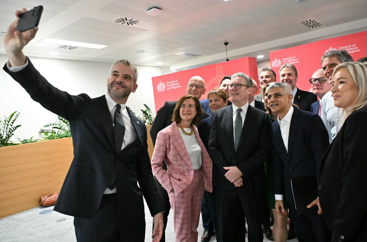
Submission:
[[[0,120],[0,147],[11,146],[17,143],[10,141],[10,138],[14,135],[14,131],[22,125],[15,125],[14,122],[17,120],[21,113],[14,111],[9,117],[5,117]]]

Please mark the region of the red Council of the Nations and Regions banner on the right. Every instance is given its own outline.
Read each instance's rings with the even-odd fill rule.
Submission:
[[[298,72],[297,87],[309,91],[309,79],[317,69],[321,69],[321,57],[333,49],[347,50],[354,60],[367,56],[367,31],[271,51],[270,65],[279,81],[279,67],[286,63],[293,64]]]

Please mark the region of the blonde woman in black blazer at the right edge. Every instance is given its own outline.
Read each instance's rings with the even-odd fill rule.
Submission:
[[[320,206],[332,242],[367,241],[367,64],[338,65],[331,93],[344,124],[321,162]]]

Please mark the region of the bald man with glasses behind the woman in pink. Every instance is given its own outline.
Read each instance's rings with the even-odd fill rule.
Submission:
[[[206,91],[204,79],[200,76],[193,76],[190,78],[189,83],[186,85],[186,94],[196,96],[197,99],[200,99],[201,95],[203,95]],[[153,146],[156,144],[157,134],[162,129],[172,124],[172,114],[177,101],[167,101],[164,103],[163,107],[161,107],[157,111],[157,115],[154,119],[153,125],[150,128],[150,137],[152,137]],[[209,114],[203,110],[203,119],[209,117]],[[167,170],[166,162],[163,162],[163,169]],[[158,189],[159,196],[162,200],[164,213],[163,213],[163,236],[161,241],[166,241],[165,238],[165,230],[167,225],[167,217],[171,209],[170,199],[168,197],[167,191],[161,186],[156,177],[154,177],[156,182],[156,186]]]

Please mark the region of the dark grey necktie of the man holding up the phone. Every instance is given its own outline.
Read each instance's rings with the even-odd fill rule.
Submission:
[[[124,141],[124,135],[125,135],[125,123],[122,118],[120,109],[121,105],[116,104],[115,117],[113,119],[113,122],[115,124],[115,127],[113,128],[113,136],[115,137],[115,148],[117,153],[121,150],[122,142]],[[116,186],[116,174],[115,172],[113,172],[108,188],[112,190],[113,188],[115,188],[115,186]]]

